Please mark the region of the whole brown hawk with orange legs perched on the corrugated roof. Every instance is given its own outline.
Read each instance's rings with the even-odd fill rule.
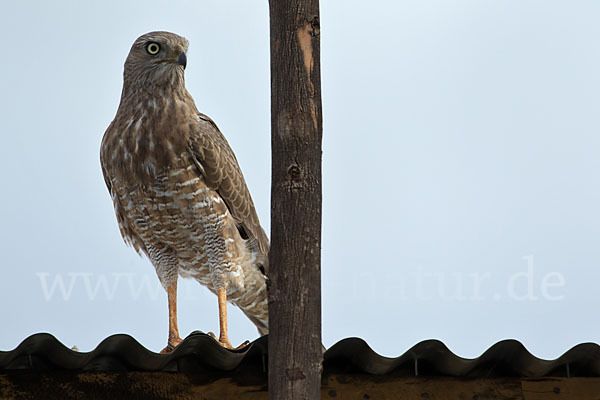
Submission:
[[[196,109],[184,84],[188,41],[169,32],[139,37],[125,61],[117,115],[100,151],[102,172],[125,241],[148,256],[177,328],[177,278],[194,278],[219,300],[219,342],[227,300],[268,331],[267,254],[248,187],[217,125]]]

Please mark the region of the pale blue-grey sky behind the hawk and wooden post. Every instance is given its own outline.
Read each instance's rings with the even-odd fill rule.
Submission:
[[[269,232],[267,1],[0,0],[0,350],[167,340],[167,297],[123,243],[99,162],[123,62],[190,40],[186,83]],[[600,339],[600,3],[321,2],[323,341],[542,358]],[[62,285],[62,286],[61,286]],[[232,343],[256,338],[230,307]],[[217,331],[180,282],[179,327]]]

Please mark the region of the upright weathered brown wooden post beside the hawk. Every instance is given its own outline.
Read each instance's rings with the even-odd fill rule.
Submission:
[[[321,69],[318,0],[269,0],[269,399],[319,399]]]

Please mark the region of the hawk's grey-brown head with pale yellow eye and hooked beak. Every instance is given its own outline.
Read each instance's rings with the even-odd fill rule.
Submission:
[[[188,45],[186,38],[171,32],[140,36],[125,61],[125,85],[162,86],[183,82]]]

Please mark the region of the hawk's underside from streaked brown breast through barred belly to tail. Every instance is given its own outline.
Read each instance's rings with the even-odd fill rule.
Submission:
[[[195,121],[174,124],[177,103],[160,109],[147,101],[107,131],[101,159],[119,229],[148,256],[165,288],[182,276],[215,293],[226,289],[264,334],[267,294],[257,246],[242,237],[225,201],[204,181],[186,142]],[[171,134],[154,135],[148,126]]]

